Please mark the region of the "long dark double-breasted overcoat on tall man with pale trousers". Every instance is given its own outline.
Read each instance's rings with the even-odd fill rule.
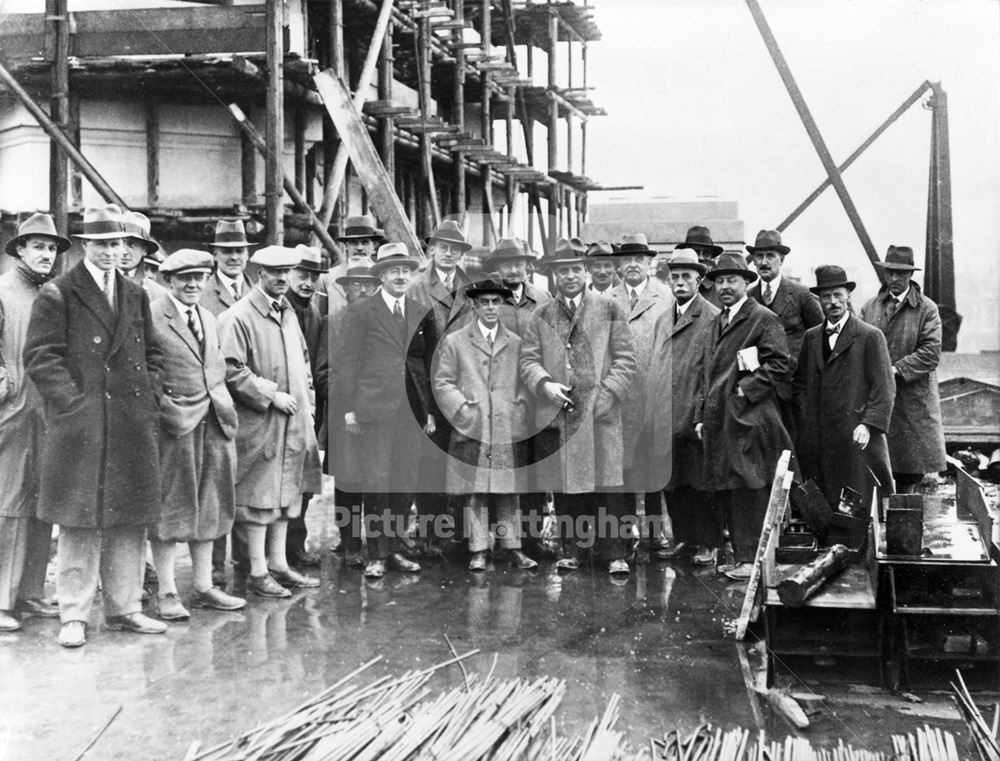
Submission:
[[[25,366],[47,402],[39,517],[74,528],[146,526],[160,509],[162,356],[149,298],[115,275],[116,309],[81,261],[42,287]]]

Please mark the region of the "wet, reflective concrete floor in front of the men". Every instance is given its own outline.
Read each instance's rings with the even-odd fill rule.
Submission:
[[[447,660],[445,634],[459,652],[481,651],[469,662],[481,674],[496,654],[497,676],[566,679],[557,714],[566,731],[600,715],[612,693],[622,697],[619,728],[633,747],[706,721],[776,738],[790,731],[749,697],[724,627],[742,587],[713,571],[653,562],[617,585],[597,570],[560,576],[550,563],[537,573],[472,574],[444,562],[369,583],[327,551],[332,509],[314,502],[310,524],[324,554],[318,590],[253,600],[239,613],[194,611],[164,636],[109,632],[95,613],[88,644],[75,651],[56,644],[58,621],[29,619],[22,632],[0,635],[0,761],[76,759],[119,708],[86,759],[181,759],[193,740],[205,747],[234,737],[377,655],[384,660],[362,682]],[[184,594],[190,572],[181,570]],[[804,733],[814,745],[842,738],[889,752],[890,733],[926,722],[964,738],[946,695],[921,693],[924,702],[912,704],[877,686],[816,681],[839,672],[782,677],[826,697]],[[435,679],[451,688],[462,677],[451,667]]]

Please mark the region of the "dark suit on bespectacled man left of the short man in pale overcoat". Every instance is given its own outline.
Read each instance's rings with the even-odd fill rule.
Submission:
[[[343,352],[334,376],[336,402],[331,404],[353,412],[361,425],[359,463],[366,514],[388,510],[397,525],[405,525],[413,493],[422,487],[418,482],[422,429],[430,405],[424,310],[409,297],[404,303],[402,327],[381,293],[344,310]],[[369,552],[373,558],[384,558],[393,549],[392,537],[386,536],[377,519],[374,525],[380,536],[369,542]]]

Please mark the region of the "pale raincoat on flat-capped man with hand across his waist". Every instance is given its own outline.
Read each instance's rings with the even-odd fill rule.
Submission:
[[[226,385],[236,403],[236,505],[289,508],[322,488],[313,429],[314,392],[305,339],[292,309],[276,312],[260,288],[223,312],[219,337]],[[272,404],[277,391],[295,397],[294,415]]]

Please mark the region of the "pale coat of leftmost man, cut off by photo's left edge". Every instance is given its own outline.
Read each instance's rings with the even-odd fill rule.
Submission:
[[[31,305],[41,284],[15,267],[0,275],[0,517],[35,516],[45,403],[25,375]],[[4,390],[6,388],[6,391]]]

